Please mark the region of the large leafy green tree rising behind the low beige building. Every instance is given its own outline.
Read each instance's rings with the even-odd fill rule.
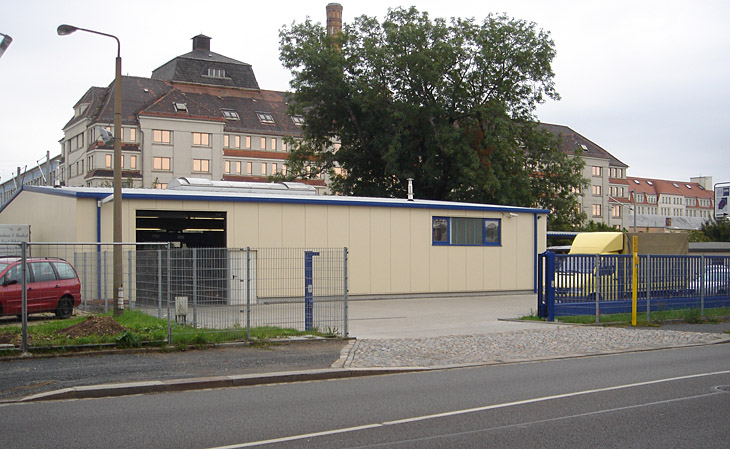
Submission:
[[[558,99],[548,33],[504,15],[431,20],[391,9],[336,36],[306,20],[280,32],[303,138],[289,177],[327,171],[347,195],[545,207],[577,223],[583,161],[558,149],[535,108]],[[332,145],[339,142],[339,145]]]

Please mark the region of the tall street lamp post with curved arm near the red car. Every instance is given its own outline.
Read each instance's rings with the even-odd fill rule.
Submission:
[[[124,311],[124,293],[122,290],[122,56],[119,39],[111,34],[79,28],[72,25],[59,25],[56,30],[59,36],[66,36],[75,31],[111,37],[117,41],[116,72],[114,75],[114,315],[121,315]]]

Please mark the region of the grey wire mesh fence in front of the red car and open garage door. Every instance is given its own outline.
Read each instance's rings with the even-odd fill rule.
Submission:
[[[346,248],[119,247],[124,307],[166,322],[173,343],[201,332],[347,335]],[[25,350],[28,314],[35,323],[67,318],[74,309],[77,315],[112,311],[113,252],[113,244],[31,243],[0,257],[0,332],[20,321]]]

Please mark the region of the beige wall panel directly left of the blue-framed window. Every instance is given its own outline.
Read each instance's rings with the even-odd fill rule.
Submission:
[[[431,291],[431,214],[428,210],[411,210],[410,222],[410,292]]]

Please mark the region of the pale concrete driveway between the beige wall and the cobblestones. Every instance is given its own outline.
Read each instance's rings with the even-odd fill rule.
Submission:
[[[360,339],[418,338],[551,326],[542,322],[500,321],[530,315],[536,309],[534,294],[357,300],[349,302],[349,334]]]

